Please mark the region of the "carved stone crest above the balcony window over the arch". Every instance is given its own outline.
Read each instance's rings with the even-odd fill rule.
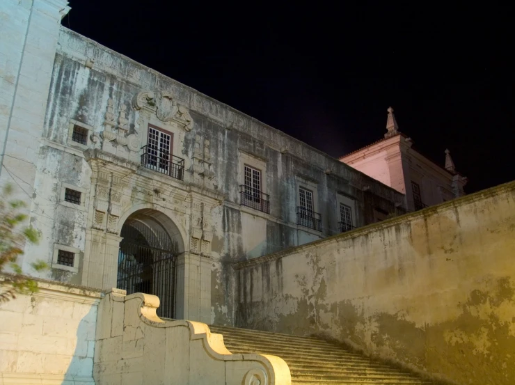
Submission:
[[[176,123],[184,131],[190,131],[193,128],[193,119],[189,110],[178,104],[168,91],[142,91],[134,96],[132,107],[136,110],[154,111],[161,122]]]

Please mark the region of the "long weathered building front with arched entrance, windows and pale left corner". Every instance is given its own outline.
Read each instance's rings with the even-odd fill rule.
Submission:
[[[232,324],[225,262],[405,211],[395,189],[60,26],[66,1],[3,8],[0,183],[42,235],[27,273]],[[31,272],[38,259],[52,268]]]

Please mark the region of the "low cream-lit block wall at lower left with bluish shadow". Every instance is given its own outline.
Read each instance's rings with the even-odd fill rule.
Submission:
[[[100,292],[38,284],[39,292],[0,304],[0,384],[94,385]]]

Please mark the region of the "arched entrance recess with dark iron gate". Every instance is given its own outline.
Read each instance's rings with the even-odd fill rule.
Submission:
[[[177,256],[184,251],[179,229],[166,214],[143,209],[127,217],[120,236],[117,287],[157,295],[157,314],[173,318]]]

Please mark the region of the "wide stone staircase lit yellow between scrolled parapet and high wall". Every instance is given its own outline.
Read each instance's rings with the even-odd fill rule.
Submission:
[[[225,347],[231,353],[279,356],[290,367],[292,384],[432,384],[319,338],[232,327],[209,326],[209,329],[223,335]]]

